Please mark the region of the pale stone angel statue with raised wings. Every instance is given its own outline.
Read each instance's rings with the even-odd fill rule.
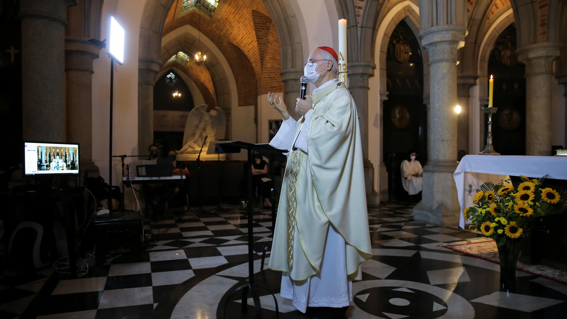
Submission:
[[[205,136],[208,136],[201,154],[201,158],[205,157],[209,142],[225,138],[225,133],[225,112],[219,107],[209,107],[206,104],[199,105],[189,113],[183,134],[183,147],[177,151],[177,159],[196,159],[201,150],[201,145],[205,141]]]

